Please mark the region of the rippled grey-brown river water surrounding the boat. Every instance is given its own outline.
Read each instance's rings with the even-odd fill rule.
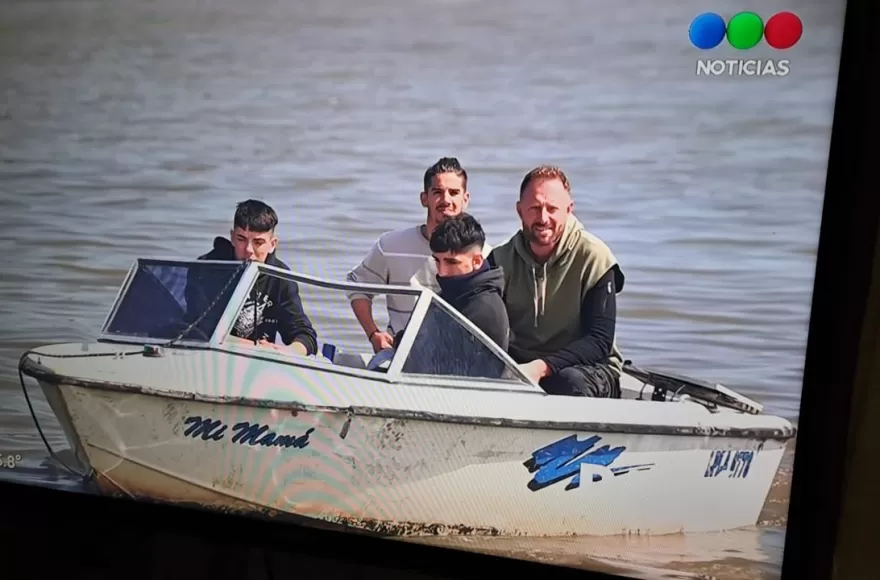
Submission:
[[[628,276],[625,356],[796,420],[844,3],[736,8],[801,16],[791,74],[694,75],[688,22],[720,2],[5,2],[0,452],[45,456],[21,352],[93,336],[133,259],[207,251],[254,196],[280,213],[285,261],[341,278],[423,218],[444,155],[490,242],[518,226],[522,175],[563,166]],[[772,575],[781,528],[751,537],[761,556],[737,569]]]

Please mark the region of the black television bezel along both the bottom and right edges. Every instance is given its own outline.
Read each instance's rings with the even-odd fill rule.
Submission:
[[[785,580],[828,578],[832,573],[852,385],[880,215],[880,196],[867,172],[873,161],[869,160],[869,145],[880,135],[872,110],[872,103],[880,103],[880,93],[872,82],[872,71],[880,70],[880,59],[868,33],[869,23],[876,17],[876,3],[847,3],[782,568]],[[302,572],[298,575],[307,577],[354,573],[382,578],[482,579],[487,574],[620,578],[16,483],[0,483],[0,497],[4,504],[0,520],[6,532],[2,551],[10,577],[54,577],[75,571],[91,578],[116,578],[122,573],[129,578],[160,577],[156,574],[161,565],[187,578],[241,578],[244,576],[229,575],[231,569],[221,565],[214,572],[198,574],[192,569],[193,562],[208,551],[219,558],[241,550],[239,553],[249,554],[248,566],[259,567],[259,562],[253,562],[253,551],[264,549],[271,558],[297,559]],[[162,545],[165,547],[160,548]],[[26,555],[47,546],[52,557]],[[174,547],[176,554],[171,553]],[[162,563],[169,558],[176,564]],[[87,568],[80,569],[82,566]],[[263,571],[247,577],[269,576]]]

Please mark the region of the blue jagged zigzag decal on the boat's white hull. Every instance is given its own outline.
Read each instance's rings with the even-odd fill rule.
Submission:
[[[565,486],[566,491],[580,487],[582,465],[609,467],[626,450],[626,447],[612,449],[608,445],[593,449],[601,439],[598,435],[593,435],[584,441],[578,441],[577,435],[569,435],[532,452],[531,459],[523,463],[529,473],[535,474],[529,481],[528,488],[538,491],[568,478],[571,478],[571,481]],[[593,450],[590,451],[591,449]],[[653,463],[626,465],[610,467],[609,470],[616,477],[631,471],[645,471],[653,465]],[[592,475],[592,481],[601,480],[601,474]]]

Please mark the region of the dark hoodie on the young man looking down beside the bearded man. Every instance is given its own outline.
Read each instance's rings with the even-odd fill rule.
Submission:
[[[502,292],[504,274],[488,262],[470,274],[437,276],[440,297],[507,351],[510,322]]]

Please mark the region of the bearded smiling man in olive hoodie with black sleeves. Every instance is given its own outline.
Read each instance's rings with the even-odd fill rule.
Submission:
[[[526,174],[516,204],[522,229],[489,255],[504,272],[508,352],[550,394],[616,398],[623,366],[616,294],[624,276],[573,208],[561,169]]]

